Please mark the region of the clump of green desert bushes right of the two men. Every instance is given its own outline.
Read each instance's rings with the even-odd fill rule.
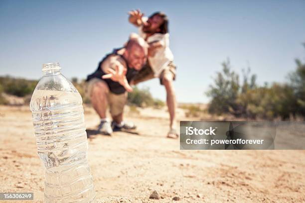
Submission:
[[[212,98],[208,111],[252,119],[305,117],[305,64],[300,60],[296,63],[297,70],[289,75],[290,83],[258,87],[256,75],[250,75],[250,68],[243,71],[243,84],[240,85],[239,76],[231,71],[229,61],[224,62],[222,72],[217,73],[206,93]]]

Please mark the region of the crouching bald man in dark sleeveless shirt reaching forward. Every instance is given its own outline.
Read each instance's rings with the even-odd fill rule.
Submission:
[[[113,128],[135,129],[136,126],[123,119],[127,91],[133,89],[129,82],[142,69],[147,60],[148,45],[137,34],[132,34],[125,47],[114,49],[99,63],[97,70],[87,77],[87,94],[101,118],[98,131],[111,135]],[[106,118],[107,106],[113,119]]]

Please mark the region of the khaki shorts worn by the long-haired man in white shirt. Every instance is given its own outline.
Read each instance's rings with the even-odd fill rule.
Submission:
[[[169,62],[167,67],[161,72],[159,76],[160,85],[162,84],[162,79],[166,74],[172,75],[172,80],[176,79],[176,65],[173,62]],[[154,78],[154,73],[152,71],[152,67],[149,63],[147,63],[141,71],[133,78],[133,84],[137,85],[138,83],[151,80]]]

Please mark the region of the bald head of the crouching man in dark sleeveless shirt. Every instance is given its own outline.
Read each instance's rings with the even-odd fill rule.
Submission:
[[[141,70],[147,60],[148,44],[139,35],[133,33],[125,46],[124,56],[128,65],[136,70]]]

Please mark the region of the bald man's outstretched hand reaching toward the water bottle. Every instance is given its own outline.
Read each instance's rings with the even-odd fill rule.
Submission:
[[[116,65],[115,71],[111,68],[108,68],[107,71],[109,72],[109,74],[103,75],[102,79],[111,79],[115,82],[120,83],[128,92],[133,91],[133,88],[129,85],[126,78],[126,68],[124,68],[123,66]]]

